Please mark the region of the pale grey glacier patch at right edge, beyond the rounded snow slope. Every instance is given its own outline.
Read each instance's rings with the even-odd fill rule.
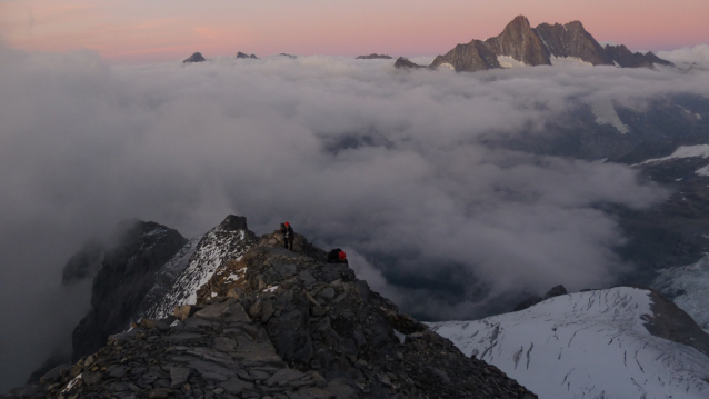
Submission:
[[[671,298],[709,332],[709,256],[692,265],[661,270],[652,288]]]

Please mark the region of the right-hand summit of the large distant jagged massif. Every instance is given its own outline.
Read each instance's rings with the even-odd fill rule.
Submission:
[[[541,23],[535,31],[551,56],[578,58],[593,66],[613,64],[612,59],[580,21],[567,24]]]

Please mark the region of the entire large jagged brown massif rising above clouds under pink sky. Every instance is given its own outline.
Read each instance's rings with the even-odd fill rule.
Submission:
[[[671,66],[671,62],[651,52],[645,56],[632,53],[622,44],[602,48],[579,21],[567,24],[541,23],[532,28],[527,17],[519,16],[499,36],[485,42],[472,40],[467,44],[458,44],[446,56],[437,57],[429,68],[450,64],[456,71],[475,72],[502,68],[502,57],[511,57],[527,66],[550,66],[556,58],[572,58],[593,66],[621,68]],[[403,62],[397,62],[395,67],[412,68]]]

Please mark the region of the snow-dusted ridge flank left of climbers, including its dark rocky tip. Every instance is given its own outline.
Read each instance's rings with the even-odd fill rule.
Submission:
[[[197,291],[211,279],[217,269],[229,260],[239,259],[256,242],[257,237],[248,230],[246,218],[227,217],[219,226],[208,231],[193,250],[189,248],[193,245],[193,241],[190,241],[170,260],[169,265],[173,269],[182,268],[182,271],[173,279],[169,289],[161,289],[162,296],[156,297],[159,300],[151,302],[143,316],[160,319],[172,315],[178,305],[197,303]],[[189,260],[184,266],[188,256]]]

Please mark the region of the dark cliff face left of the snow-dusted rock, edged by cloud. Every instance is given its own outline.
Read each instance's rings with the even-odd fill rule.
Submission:
[[[109,335],[127,329],[154,282],[154,273],[187,242],[177,230],[137,222],[107,250],[93,279],[89,315],[72,333],[72,358],[106,345]]]

